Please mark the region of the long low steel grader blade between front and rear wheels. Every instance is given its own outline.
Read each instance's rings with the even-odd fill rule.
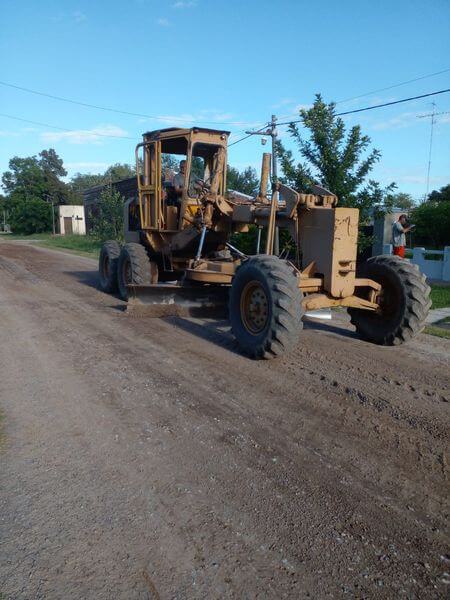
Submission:
[[[228,286],[128,285],[126,312],[143,317],[226,318]]]

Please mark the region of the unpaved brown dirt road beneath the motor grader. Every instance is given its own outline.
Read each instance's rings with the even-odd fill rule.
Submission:
[[[0,242],[0,597],[442,598],[450,342],[278,361]]]

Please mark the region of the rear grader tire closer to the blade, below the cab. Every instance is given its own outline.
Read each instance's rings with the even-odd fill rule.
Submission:
[[[119,256],[117,282],[122,300],[128,300],[127,285],[148,285],[152,282],[150,259],[142,244],[130,242],[123,246]]]

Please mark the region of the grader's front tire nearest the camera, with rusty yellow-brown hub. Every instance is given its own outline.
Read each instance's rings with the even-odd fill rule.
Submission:
[[[255,293],[263,298],[265,316],[251,331],[245,306]],[[291,350],[303,328],[302,299],[295,271],[286,262],[268,255],[246,260],[236,271],[229,298],[231,328],[241,349],[258,359]]]

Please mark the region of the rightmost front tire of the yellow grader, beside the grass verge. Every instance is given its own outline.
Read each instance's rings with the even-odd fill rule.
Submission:
[[[431,290],[417,265],[396,256],[374,256],[361,266],[358,277],[373,279],[383,288],[381,312],[348,309],[361,337],[382,346],[398,346],[423,329]]]

